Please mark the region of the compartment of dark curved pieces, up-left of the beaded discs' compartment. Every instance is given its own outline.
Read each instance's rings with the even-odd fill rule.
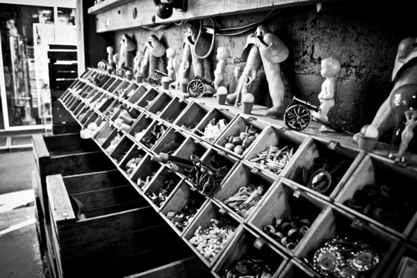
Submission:
[[[256,232],[258,232],[264,238],[270,240],[275,246],[279,247],[284,252],[292,254],[297,252],[300,246],[303,246],[304,236],[297,244],[293,252],[287,250],[285,246],[279,243],[275,238],[272,238],[263,231],[265,225],[273,224],[274,218],[286,220],[288,216],[297,216],[300,219],[308,219],[310,222],[309,231],[316,229],[320,223],[316,221],[322,211],[324,211],[327,204],[320,198],[310,193],[304,192],[300,194],[300,197],[295,197],[295,193],[298,191],[296,186],[286,181],[286,179],[280,179],[277,186],[265,197],[262,204],[255,211],[250,218],[248,224]],[[307,233],[309,233],[307,231]],[[286,235],[284,235],[286,236]]]

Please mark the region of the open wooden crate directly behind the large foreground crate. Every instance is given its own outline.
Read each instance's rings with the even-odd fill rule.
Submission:
[[[112,170],[115,166],[92,140],[82,140],[78,133],[42,137],[32,136],[33,157],[40,177],[38,193],[45,216],[47,213],[46,177],[50,174],[82,174]],[[47,218],[49,222],[49,219]]]

